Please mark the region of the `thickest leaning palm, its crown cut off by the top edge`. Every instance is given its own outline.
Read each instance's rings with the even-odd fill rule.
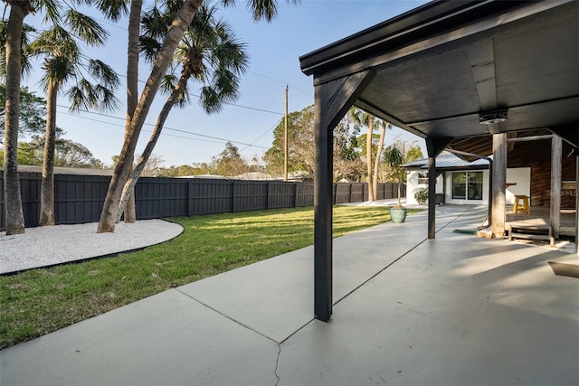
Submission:
[[[106,0],[101,1],[106,2]],[[299,2],[299,0],[288,1],[291,3]],[[155,99],[161,79],[172,61],[172,55],[176,50],[177,44],[181,41],[183,34],[193,21],[193,17],[202,3],[203,0],[166,1],[166,5],[171,6],[173,9],[178,8],[178,12],[176,12],[171,27],[167,30],[163,44],[158,52],[145,88],[143,89],[139,99],[137,108],[135,108],[132,117],[129,117],[128,115],[125,125],[125,140],[119,154],[119,162],[117,163],[114,174],[110,180],[109,190],[100,214],[99,228],[97,230],[100,233],[112,232],[115,230],[122,189],[128,180],[128,174],[132,167],[132,157],[135,154],[138,136],[143,124],[145,123],[145,118],[147,118],[148,109],[150,108],[153,99]],[[234,4],[234,0],[222,0],[222,3],[225,5],[231,5]],[[276,0],[246,0],[246,3],[252,10],[253,18],[255,20],[263,18],[270,21],[277,12]],[[129,20],[134,20],[133,12],[133,7],[131,7]],[[129,24],[129,35],[138,31],[138,27],[138,24]]]

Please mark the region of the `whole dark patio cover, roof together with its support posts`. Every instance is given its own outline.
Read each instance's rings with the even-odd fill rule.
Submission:
[[[425,138],[429,239],[436,155],[447,146],[468,151],[471,141],[492,136],[492,212],[503,206],[503,219],[493,214],[500,220],[492,226],[504,229],[506,137],[549,130],[558,136],[552,146],[559,157],[560,137],[579,146],[578,36],[573,0],[434,1],[299,58],[302,71],[313,75],[316,96],[318,319],[332,314],[332,136],[347,110],[356,105]]]

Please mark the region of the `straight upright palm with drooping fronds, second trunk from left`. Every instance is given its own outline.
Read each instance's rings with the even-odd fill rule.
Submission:
[[[104,44],[108,33],[93,19],[74,9],[67,10],[63,20],[71,32],[60,25],[53,25],[31,43],[33,54],[44,56],[43,84],[47,100],[40,226],[54,225],[54,146],[58,93],[70,80],[75,80],[71,89],[66,91],[71,99],[71,111],[90,108],[110,111],[119,105],[119,99],[114,95],[114,89],[119,85],[116,72],[102,61],[86,62],[74,37],[77,36],[87,44],[99,46]],[[98,81],[97,84],[91,83],[85,77],[85,68],[90,77]]]

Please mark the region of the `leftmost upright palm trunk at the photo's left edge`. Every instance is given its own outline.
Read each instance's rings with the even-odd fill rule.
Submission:
[[[24,212],[18,178],[18,126],[22,26],[25,15],[24,8],[12,4],[6,32],[4,187],[5,231],[7,235],[24,233]]]

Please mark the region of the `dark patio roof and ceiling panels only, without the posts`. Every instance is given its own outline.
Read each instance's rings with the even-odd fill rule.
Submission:
[[[579,146],[577,1],[435,1],[299,61],[314,85],[371,71],[357,107],[420,137],[456,138],[457,150],[527,129]],[[507,121],[479,124],[496,109]]]

